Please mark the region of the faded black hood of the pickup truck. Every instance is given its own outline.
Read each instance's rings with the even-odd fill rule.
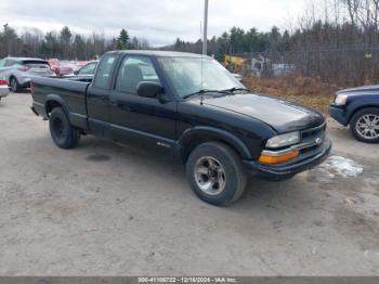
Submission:
[[[259,119],[278,133],[316,127],[325,121],[324,116],[312,108],[252,93],[207,98],[204,105]]]

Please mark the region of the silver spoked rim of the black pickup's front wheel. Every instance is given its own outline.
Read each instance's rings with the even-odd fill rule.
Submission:
[[[201,157],[195,164],[195,181],[204,193],[218,195],[225,190],[225,169],[218,159]]]

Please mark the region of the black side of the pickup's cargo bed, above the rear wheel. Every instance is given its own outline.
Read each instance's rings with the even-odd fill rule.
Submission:
[[[90,86],[89,78],[34,77],[31,82],[32,107],[38,115],[48,117],[49,101],[54,100],[55,103],[61,102],[74,126],[87,129],[86,94]]]

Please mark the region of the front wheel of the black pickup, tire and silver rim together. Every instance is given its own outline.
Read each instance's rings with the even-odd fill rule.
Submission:
[[[196,195],[217,206],[237,201],[247,182],[237,153],[219,142],[207,142],[197,146],[187,160],[186,175]]]

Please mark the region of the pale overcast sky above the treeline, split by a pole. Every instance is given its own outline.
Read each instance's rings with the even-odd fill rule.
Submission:
[[[304,0],[209,0],[209,37],[233,26],[270,30],[289,28],[305,7]],[[42,31],[69,26],[78,34],[117,37],[121,28],[153,46],[200,38],[204,0],[1,0],[0,24]]]

